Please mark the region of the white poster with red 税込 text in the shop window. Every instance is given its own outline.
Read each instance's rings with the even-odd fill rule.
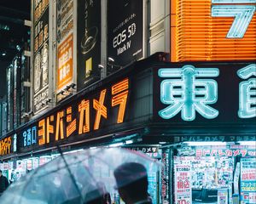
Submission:
[[[192,203],[191,165],[189,161],[175,164],[175,203]]]

